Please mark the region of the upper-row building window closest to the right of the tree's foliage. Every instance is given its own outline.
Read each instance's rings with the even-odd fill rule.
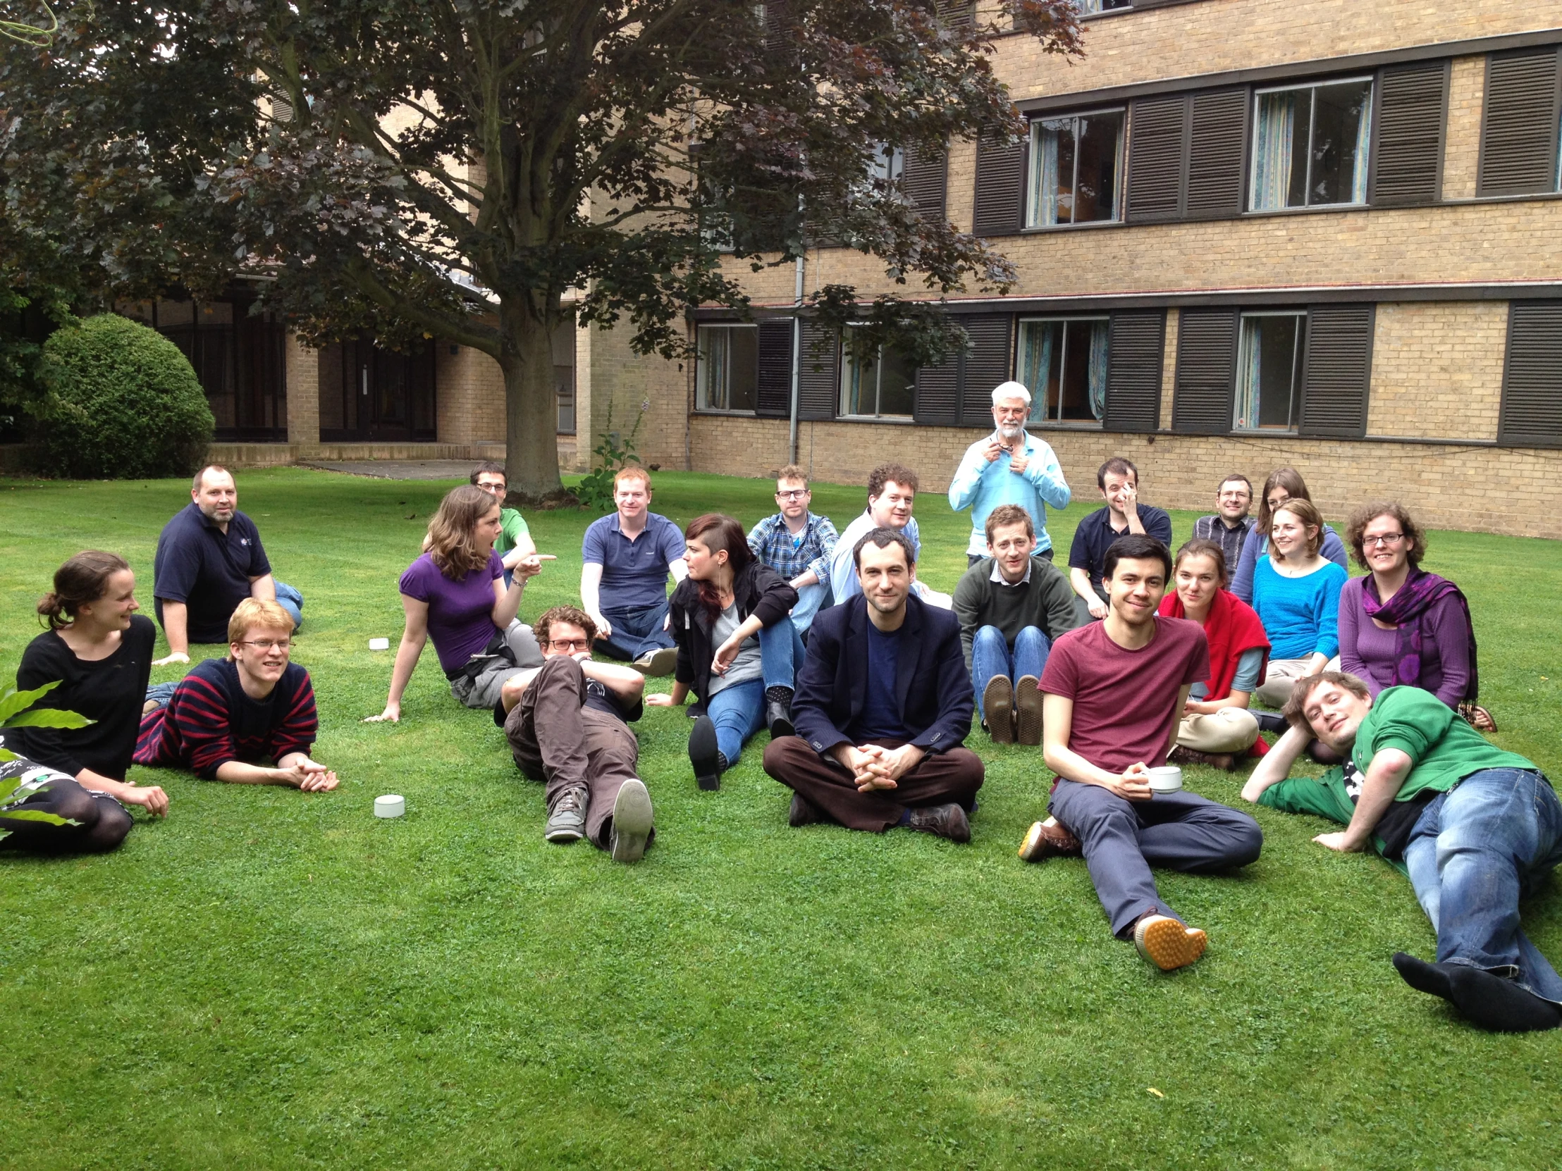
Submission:
[[[1122,219],[1123,111],[1031,123],[1026,228]]]

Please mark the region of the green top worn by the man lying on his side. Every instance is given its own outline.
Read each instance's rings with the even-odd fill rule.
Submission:
[[[1395,801],[1409,801],[1428,790],[1446,793],[1485,768],[1535,767],[1493,745],[1453,707],[1420,687],[1385,687],[1378,693],[1356,732],[1351,759],[1367,773],[1373,757],[1385,748],[1398,748],[1410,757],[1410,774]],[[1342,826],[1350,824],[1356,812],[1345,792],[1345,770],[1339,765],[1321,778],[1296,776],[1270,785],[1259,795],[1259,804],[1286,813],[1312,813]],[[1382,838],[1376,834],[1373,848],[1382,852]]]

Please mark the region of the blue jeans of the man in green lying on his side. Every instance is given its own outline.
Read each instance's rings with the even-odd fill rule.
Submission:
[[[1562,1004],[1562,977],[1518,929],[1518,899],[1562,862],[1562,801],[1521,768],[1484,768],[1434,798],[1404,848],[1439,963],[1467,963]]]

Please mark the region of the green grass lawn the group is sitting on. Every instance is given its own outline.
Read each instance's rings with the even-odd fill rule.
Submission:
[[[956,453],[951,453],[951,459]],[[1076,475],[1076,479],[1086,482]],[[1087,486],[1087,484],[1086,484]],[[195,781],[106,857],[0,857],[0,1165],[1514,1168],[1559,1163],[1562,1034],[1493,1037],[1404,987],[1432,951],[1409,882],[1257,810],[1237,877],[1161,876],[1211,937],[1161,974],[1111,938],[1079,860],[1026,867],[1051,774],[993,748],[970,846],[792,831],[761,735],[700,793],[687,718],[637,726],[658,842],[637,867],[542,840],[542,787],[430,648],[378,712],[397,576],[450,484],[297,468],[239,476],[320,701],[326,795]],[[1089,486],[1087,486],[1089,487]],[[658,475],[653,507],[753,523],[765,481]],[[152,607],[159,482],[0,481],[0,674],[69,554],[125,554]],[[1153,500],[1153,493],[1151,493]],[[1414,504],[1414,501],[1412,501]],[[858,487],[818,486],[839,526]],[[1064,550],[1076,503],[1056,517]],[[967,518],[926,495],[922,576],[951,590]],[[1175,514],[1182,539],[1192,514]],[[576,596],[583,514],[530,517],[559,554],[523,617]],[[1467,590],[1504,746],[1562,776],[1562,545],[1437,532]],[[216,653],[216,648],[211,648]],[[153,679],[180,668],[155,668]],[[659,685],[665,685],[662,681]],[[1240,778],[1190,787],[1240,804]],[[408,815],[378,821],[380,793]],[[1562,960],[1562,898],[1525,909]]]

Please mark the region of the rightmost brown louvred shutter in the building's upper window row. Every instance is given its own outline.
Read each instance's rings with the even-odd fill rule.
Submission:
[[[1557,106],[1556,45],[1487,58],[1476,194],[1556,190]]]

